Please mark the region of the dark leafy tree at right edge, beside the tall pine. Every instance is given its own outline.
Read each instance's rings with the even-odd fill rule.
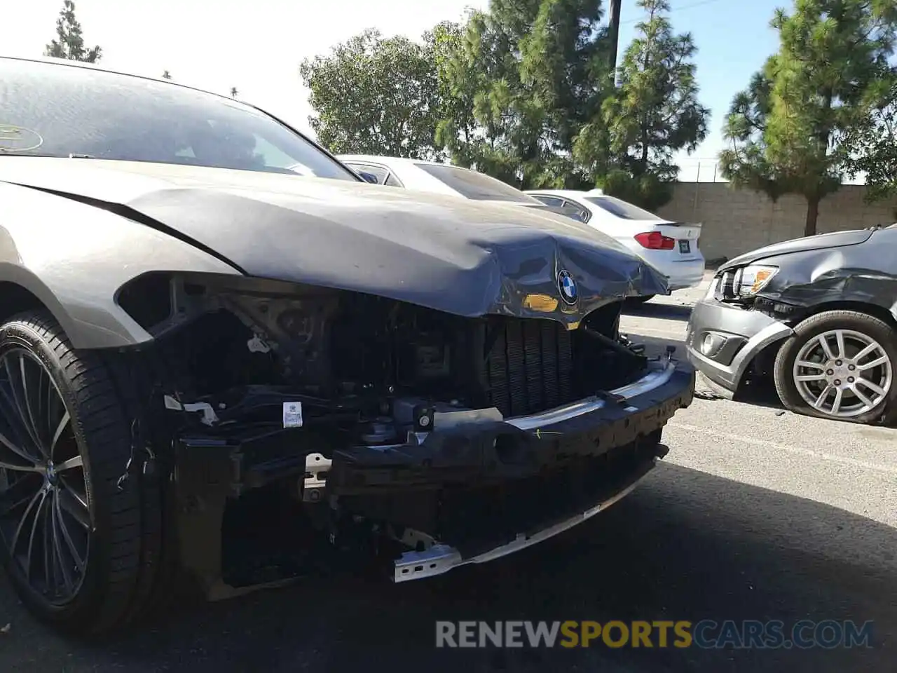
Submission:
[[[881,92],[870,96],[869,115],[845,138],[850,156],[845,168],[851,177],[866,174],[866,199],[897,196],[897,78],[883,81]]]

